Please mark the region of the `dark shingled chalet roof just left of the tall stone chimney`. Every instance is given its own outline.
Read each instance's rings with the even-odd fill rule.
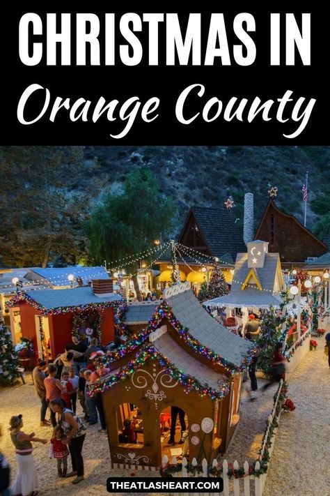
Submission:
[[[219,260],[235,262],[237,253],[244,252],[246,246],[243,241],[243,223],[237,221],[231,209],[212,206],[196,206],[189,210],[186,222],[180,234],[179,241],[182,242],[182,235],[189,220],[190,215],[196,219],[198,229],[201,231],[203,239],[210,255],[218,257]]]

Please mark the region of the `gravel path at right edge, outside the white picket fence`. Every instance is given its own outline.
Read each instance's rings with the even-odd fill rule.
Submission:
[[[324,338],[292,373],[263,496],[330,496],[330,370]]]

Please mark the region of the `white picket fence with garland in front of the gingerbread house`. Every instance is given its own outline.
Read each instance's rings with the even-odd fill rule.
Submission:
[[[259,460],[256,462],[255,470],[258,471],[260,470],[260,462],[262,460],[262,456],[265,454],[265,449],[266,445],[269,444],[269,429],[270,426],[273,423],[274,416],[276,415],[276,407],[278,404],[278,398],[281,394],[283,386],[283,380],[281,380],[280,385],[278,387],[278,391],[276,393],[276,400],[274,402],[274,407],[272,409],[272,413],[268,417],[268,426],[267,430],[265,432],[265,435],[262,439],[262,446],[261,446],[261,451],[260,451],[260,456]],[[281,416],[281,412],[278,414],[276,417],[277,423],[279,421],[279,417]],[[274,441],[276,438],[276,433],[277,433],[277,428],[274,428],[273,431],[273,436],[272,440],[270,443],[270,446],[267,446],[267,449],[269,451],[269,461],[272,458],[272,452],[274,449]],[[178,465],[178,460],[175,458],[175,456],[172,458],[171,465],[175,466]],[[208,465],[207,465],[207,460],[204,458],[202,461],[202,466],[201,466],[201,471],[198,471],[196,469],[194,471],[194,475],[191,474],[191,472],[187,472],[187,459],[182,458],[182,466],[180,471],[178,472],[172,472],[173,477],[210,477],[212,478],[212,474],[209,474],[208,470]],[[198,463],[196,458],[193,458],[191,461],[192,467],[197,467]],[[168,457],[165,455],[162,460],[162,467],[165,469],[168,466]],[[221,495],[221,496],[262,496],[262,492],[265,488],[265,483],[266,483],[266,478],[267,478],[267,472],[265,474],[260,474],[259,477],[254,476],[252,474],[249,474],[249,462],[245,461],[243,468],[244,468],[244,476],[233,478],[228,476],[228,469],[232,470],[238,470],[239,465],[237,460],[233,464],[228,462],[227,460],[223,460],[222,462],[219,462],[218,460],[213,460],[212,462],[212,467],[217,468],[218,470],[221,469],[222,467],[222,474],[221,477],[223,479],[223,492],[222,493],[169,493],[171,496],[211,496],[211,495]]]

